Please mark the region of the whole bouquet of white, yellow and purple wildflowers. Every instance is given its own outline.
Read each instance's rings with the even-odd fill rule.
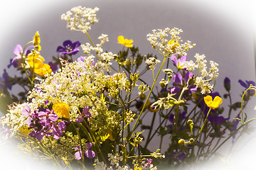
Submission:
[[[5,140],[16,139],[24,153],[58,169],[178,169],[213,159],[255,120],[243,113],[255,82],[239,80],[245,90],[233,102],[226,77],[225,94],[219,94],[218,64],[208,65],[205,55],[187,56],[196,44],[183,42],[181,29],[146,35],[159,55],[140,54],[122,35],[121,50],[108,52],[102,48],[107,35],[98,42],[89,35],[98,10],[77,6],[61,16],[90,41],[65,40],[48,64],[38,31],[31,42],[14,47],[8,67],[20,74],[10,77],[4,69],[0,84]],[[18,93],[11,91],[14,85],[21,87]],[[159,149],[151,149],[152,139]]]

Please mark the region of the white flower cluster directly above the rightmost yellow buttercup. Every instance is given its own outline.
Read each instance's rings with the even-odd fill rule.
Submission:
[[[197,75],[196,75],[196,86],[201,88],[201,94],[209,94],[213,90],[213,84],[209,82],[215,80],[218,77],[218,64],[210,61],[210,70],[207,71],[205,55],[196,54],[196,63],[192,60],[186,62],[187,70],[193,71],[197,68]],[[209,79],[207,77],[210,77]]]

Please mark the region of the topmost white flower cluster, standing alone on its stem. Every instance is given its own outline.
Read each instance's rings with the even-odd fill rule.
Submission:
[[[99,8],[85,8],[76,6],[71,8],[67,13],[63,13],[62,20],[68,21],[67,28],[70,30],[79,30],[82,33],[87,33],[91,29],[92,23],[97,23],[99,20],[96,18],[96,12]]]

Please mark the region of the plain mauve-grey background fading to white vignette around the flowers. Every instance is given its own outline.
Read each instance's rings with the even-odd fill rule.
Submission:
[[[220,94],[224,91],[225,77],[231,80],[234,101],[240,100],[244,89],[238,84],[239,79],[255,81],[256,3],[253,0],[9,0],[0,4],[0,75],[7,68],[10,59],[14,58],[15,45],[26,45],[37,30],[41,36],[41,55],[46,58],[47,63],[53,56],[57,56],[56,49],[64,40],[79,40],[82,44],[88,42],[85,34],[66,28],[66,21],[61,21],[60,16],[73,6],[97,6],[100,8],[97,12],[100,21],[92,25],[89,34],[94,42],[102,33],[109,35],[110,42],[103,45],[104,50],[117,53],[122,48],[117,44],[117,37],[124,35],[124,38],[134,40],[134,45],[139,47],[142,55],[154,53],[160,58],[151,49],[146,34],[153,29],[181,28],[181,38],[196,43],[196,47],[188,52],[188,60],[194,60],[193,56],[199,53],[206,55],[208,62],[213,60],[219,64],[220,76],[215,89]],[[12,69],[7,69],[7,72],[16,74]],[[256,117],[255,100],[250,103],[252,104],[245,112],[253,118]],[[221,164],[235,169],[240,166],[239,162],[244,162],[242,167],[250,169],[250,164],[254,162],[251,156],[256,151],[256,138],[253,132],[244,136],[238,146],[234,147],[235,154],[225,157],[223,162],[218,161],[218,167]],[[22,155],[16,154],[13,145],[0,146],[6,150],[1,152],[0,167],[33,169],[40,164],[31,164],[28,160],[21,159]]]

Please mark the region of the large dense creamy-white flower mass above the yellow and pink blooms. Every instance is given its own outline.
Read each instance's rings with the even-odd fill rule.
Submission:
[[[50,75],[30,91],[28,99],[31,98],[31,110],[44,106],[45,101],[50,103],[62,102],[70,106],[70,118],[78,117],[78,108],[92,106],[92,101],[86,95],[78,97],[85,91],[93,93],[96,89],[90,86],[90,81],[96,77],[98,72],[92,66],[92,57],[87,57],[85,62],[68,63],[55,74]],[[93,95],[93,94],[92,94]]]

